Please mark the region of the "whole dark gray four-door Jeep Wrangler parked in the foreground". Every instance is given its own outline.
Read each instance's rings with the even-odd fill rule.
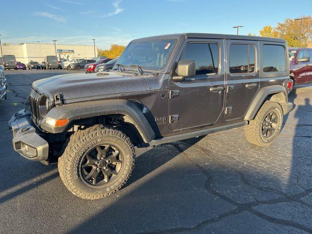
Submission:
[[[278,136],[288,102],[282,39],[173,34],[130,42],[113,71],[33,83],[10,122],[20,155],[58,161],[70,192],[97,199],[132,173],[137,147],[245,126],[251,143]]]

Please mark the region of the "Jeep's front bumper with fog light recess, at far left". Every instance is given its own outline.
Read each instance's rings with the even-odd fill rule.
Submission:
[[[48,159],[49,144],[36,132],[30,113],[26,109],[11,117],[9,129],[13,132],[13,148],[21,156],[34,161]]]

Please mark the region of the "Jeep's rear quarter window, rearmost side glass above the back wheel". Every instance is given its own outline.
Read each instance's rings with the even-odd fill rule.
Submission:
[[[262,46],[263,72],[286,71],[285,48],[282,45],[264,44]]]

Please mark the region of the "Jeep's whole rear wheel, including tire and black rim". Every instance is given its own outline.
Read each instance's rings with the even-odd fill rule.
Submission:
[[[283,123],[283,110],[275,101],[266,101],[254,120],[245,126],[247,140],[255,145],[268,146],[278,136]]]

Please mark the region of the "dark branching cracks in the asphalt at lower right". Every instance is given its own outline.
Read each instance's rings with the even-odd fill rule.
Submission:
[[[183,142],[186,143],[186,142]],[[188,143],[186,143],[188,144]],[[160,234],[160,233],[180,233],[180,232],[187,232],[187,231],[197,231],[200,230],[201,228],[207,226],[210,223],[215,223],[215,222],[219,222],[224,218],[227,218],[229,216],[233,216],[236,214],[239,214],[241,212],[247,211],[261,219],[264,219],[266,221],[275,223],[275,224],[280,224],[280,225],[285,225],[285,226],[290,226],[293,228],[297,228],[300,230],[303,230],[305,232],[308,233],[312,233],[312,229],[303,226],[301,224],[289,221],[289,220],[285,220],[285,219],[278,219],[278,218],[274,218],[272,216],[269,215],[265,215],[263,213],[260,213],[252,208],[259,206],[259,205],[273,205],[273,204],[277,204],[277,203],[285,203],[285,202],[299,202],[301,204],[304,204],[306,206],[312,207],[312,204],[310,203],[306,203],[303,202],[302,200],[300,200],[300,198],[305,197],[307,195],[309,195],[310,193],[312,193],[312,189],[308,189],[302,193],[299,194],[295,194],[295,195],[288,195],[286,193],[283,193],[281,191],[275,190],[275,189],[271,189],[271,188],[267,188],[267,187],[261,187],[261,186],[256,186],[254,184],[251,184],[251,182],[245,177],[245,175],[240,172],[239,170],[233,168],[233,167],[229,167],[229,169],[234,170],[234,172],[238,173],[240,175],[240,178],[242,180],[243,183],[256,188],[260,191],[266,191],[266,192],[272,192],[272,193],[276,193],[278,195],[282,195],[282,198],[274,198],[274,199],[270,199],[270,200],[263,200],[263,201],[259,201],[254,199],[255,201],[253,202],[248,202],[248,203],[240,203],[237,202],[233,199],[231,199],[230,197],[227,197],[226,195],[222,195],[219,192],[217,192],[215,189],[213,189],[212,187],[212,182],[213,182],[213,177],[210,175],[210,173],[208,171],[206,171],[201,165],[197,164],[196,162],[194,162],[185,152],[183,149],[181,149],[181,147],[176,144],[176,143],[168,143],[165,145],[172,145],[173,147],[176,148],[176,150],[178,150],[181,154],[184,155],[185,159],[189,162],[191,162],[193,165],[195,165],[200,171],[201,173],[207,178],[207,180],[205,181],[205,189],[206,191],[208,191],[210,194],[215,195],[219,198],[221,198],[222,200],[229,202],[230,204],[233,204],[234,206],[236,206],[236,208],[234,210],[231,210],[229,212],[223,213],[221,215],[217,215],[213,218],[204,220],[198,224],[196,224],[193,227],[177,227],[177,228],[170,228],[170,229],[164,229],[164,230],[158,230],[158,231],[153,231],[153,232],[144,232],[144,234]],[[204,154],[207,156],[207,149],[199,146],[199,145],[194,145],[197,149],[202,150],[204,152]],[[210,156],[208,156],[211,160],[215,161],[216,163],[217,160],[215,160],[215,158],[212,158]]]

